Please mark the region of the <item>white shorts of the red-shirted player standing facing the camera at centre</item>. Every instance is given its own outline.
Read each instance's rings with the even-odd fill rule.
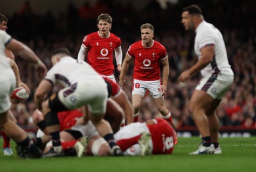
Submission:
[[[162,97],[162,92],[160,91],[161,81],[141,81],[138,79],[133,80],[132,95],[141,95],[144,97],[146,91],[148,90],[153,98]]]

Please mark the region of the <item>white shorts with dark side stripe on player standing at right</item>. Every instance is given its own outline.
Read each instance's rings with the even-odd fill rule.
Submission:
[[[196,90],[205,91],[214,99],[222,99],[234,81],[234,75],[205,75],[198,85]]]

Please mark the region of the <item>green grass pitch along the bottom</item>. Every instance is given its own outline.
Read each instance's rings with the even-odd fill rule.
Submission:
[[[256,171],[256,137],[221,138],[221,155],[188,155],[189,152],[196,150],[198,143],[200,143],[199,137],[179,138],[172,155],[20,159],[15,153],[15,143],[12,142],[15,155],[4,156],[3,149],[0,149],[0,171]],[[3,139],[0,139],[0,144],[3,145]]]

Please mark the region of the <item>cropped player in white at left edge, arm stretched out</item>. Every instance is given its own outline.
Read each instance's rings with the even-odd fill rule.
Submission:
[[[10,119],[12,115],[10,95],[17,83],[10,61],[5,54],[6,49],[19,54],[26,61],[34,63],[42,76],[46,74],[47,68],[29,47],[0,30],[0,129],[3,129],[6,136],[17,143],[17,153],[20,157],[39,158],[42,156],[40,149],[33,144],[26,132]]]

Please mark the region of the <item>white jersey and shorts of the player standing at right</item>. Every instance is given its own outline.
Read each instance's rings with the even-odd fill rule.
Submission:
[[[207,46],[214,46],[214,58],[201,70],[203,78],[196,86],[196,90],[203,90],[212,98],[221,99],[230,88],[234,73],[228,63],[223,36],[216,27],[203,21],[196,28],[194,49],[198,59],[202,56],[201,49]]]

